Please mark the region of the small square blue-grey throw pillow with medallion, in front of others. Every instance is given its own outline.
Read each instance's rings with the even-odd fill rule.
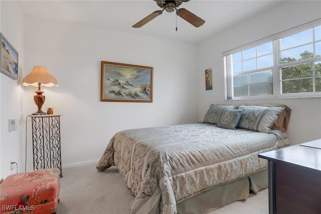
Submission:
[[[244,109],[225,109],[220,115],[217,126],[227,129],[236,129]]]

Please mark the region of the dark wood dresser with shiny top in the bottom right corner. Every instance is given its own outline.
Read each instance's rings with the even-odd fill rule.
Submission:
[[[321,139],[258,156],[268,160],[270,214],[321,213]]]

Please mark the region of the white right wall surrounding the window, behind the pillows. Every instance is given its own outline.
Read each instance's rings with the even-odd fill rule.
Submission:
[[[292,145],[321,138],[321,98],[225,101],[222,52],[320,18],[320,1],[284,1],[198,47],[199,119],[210,104],[285,104],[292,109],[288,138]],[[205,90],[205,69],[212,68],[213,90]]]

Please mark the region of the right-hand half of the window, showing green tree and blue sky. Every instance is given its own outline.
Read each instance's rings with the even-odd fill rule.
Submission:
[[[321,92],[321,26],[279,40],[280,92]]]

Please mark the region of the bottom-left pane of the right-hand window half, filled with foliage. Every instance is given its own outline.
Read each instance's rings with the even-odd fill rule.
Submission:
[[[313,92],[312,78],[282,82],[282,94],[304,92]]]

